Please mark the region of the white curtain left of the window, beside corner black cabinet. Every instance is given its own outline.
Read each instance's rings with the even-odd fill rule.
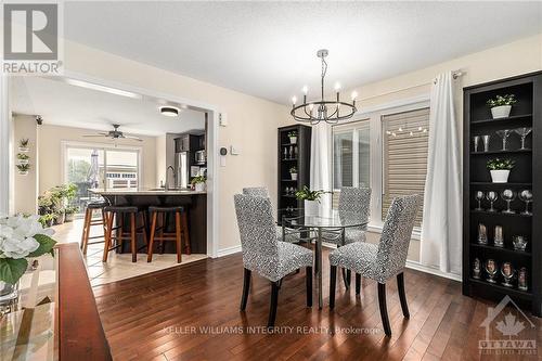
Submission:
[[[331,143],[332,128],[325,121],[312,127],[310,145],[310,189],[332,191]],[[332,194],[320,201],[321,208],[331,208]]]

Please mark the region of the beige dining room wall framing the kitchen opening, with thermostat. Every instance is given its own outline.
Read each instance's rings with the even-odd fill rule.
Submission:
[[[241,154],[228,155],[225,167],[219,167],[219,249],[240,244],[233,195],[243,186],[267,186],[275,203],[276,128],[288,118],[287,106],[69,41],[65,65],[87,76],[211,104],[228,114],[228,126],[219,130],[219,146],[235,145]]]

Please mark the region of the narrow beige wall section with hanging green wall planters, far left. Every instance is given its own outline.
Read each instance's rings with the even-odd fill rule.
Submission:
[[[21,139],[29,140],[30,170],[28,175],[22,176],[17,168],[13,169],[13,210],[15,214],[35,215],[38,210],[38,131],[36,117],[30,115],[15,115],[13,117],[13,163],[17,164],[18,142]]]

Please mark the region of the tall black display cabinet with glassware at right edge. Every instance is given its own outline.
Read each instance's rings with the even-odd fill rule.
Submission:
[[[493,119],[489,99],[495,95],[515,94],[517,103],[506,118]],[[502,138],[499,130],[532,128],[526,140],[526,150],[520,150],[520,137],[512,133],[507,139],[506,150],[502,150]],[[464,88],[464,158],[463,158],[463,294],[482,298],[501,300],[508,295],[516,304],[531,309],[537,317],[542,315],[542,73],[528,74]],[[478,151],[475,151],[474,137],[490,136],[489,150],[485,152],[480,139]],[[492,158],[508,158],[515,162],[507,183],[493,183],[487,162]],[[511,203],[514,214],[503,212],[506,202],[502,192],[512,190],[516,198]],[[524,215],[526,204],[517,194],[524,190],[532,192],[529,209],[532,215]],[[481,202],[478,208],[477,192],[496,192],[499,198],[489,211],[490,203]],[[479,228],[483,224],[488,242],[478,241]],[[495,245],[495,227],[502,228],[504,244]],[[514,247],[513,237],[527,237],[525,250]],[[476,278],[475,260],[481,262],[481,272]],[[496,263],[498,274],[494,283],[488,282],[485,262],[488,259]],[[501,267],[509,262],[516,272],[527,270],[527,289],[520,289],[518,273],[503,285]]]

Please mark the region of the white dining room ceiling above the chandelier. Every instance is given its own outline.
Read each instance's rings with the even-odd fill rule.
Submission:
[[[286,103],[373,82],[542,31],[541,2],[66,2],[65,36]]]

